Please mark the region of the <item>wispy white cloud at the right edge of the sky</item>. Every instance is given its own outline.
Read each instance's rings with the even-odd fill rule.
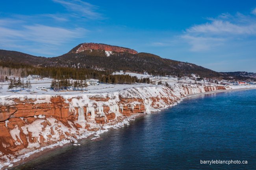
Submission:
[[[191,51],[207,51],[252,36],[256,36],[255,16],[224,13],[189,27],[180,37],[191,46]]]

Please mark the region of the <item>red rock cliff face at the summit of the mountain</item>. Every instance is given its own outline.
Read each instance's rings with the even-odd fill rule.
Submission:
[[[90,49],[95,49],[95,50],[105,50],[105,51],[113,51],[117,53],[131,53],[131,54],[137,54],[138,52],[135,51],[134,49],[129,49],[129,48],[123,48],[123,47],[118,47],[118,46],[110,46],[106,44],[96,44],[96,43],[83,43],[78,45],[78,48],[76,51],[72,51],[75,53],[80,53],[85,50],[90,50]]]

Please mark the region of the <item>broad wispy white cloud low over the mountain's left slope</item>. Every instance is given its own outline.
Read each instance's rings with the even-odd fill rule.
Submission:
[[[22,21],[17,20],[22,23]],[[17,48],[41,53],[42,55],[53,54],[51,50],[59,48],[76,38],[84,37],[87,30],[81,27],[67,29],[63,27],[46,26],[41,24],[22,24],[19,29],[12,27],[9,22],[0,24],[0,47]],[[41,52],[40,52],[41,51]]]

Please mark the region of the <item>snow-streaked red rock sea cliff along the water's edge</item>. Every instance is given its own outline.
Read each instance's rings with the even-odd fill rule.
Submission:
[[[191,93],[225,86],[178,84],[83,95],[27,95],[0,99],[0,168],[47,147],[108,131],[130,116],[167,108]]]

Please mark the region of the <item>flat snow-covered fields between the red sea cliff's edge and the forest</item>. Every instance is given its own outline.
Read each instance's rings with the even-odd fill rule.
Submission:
[[[123,74],[116,72],[115,74]],[[132,76],[137,76],[138,78],[147,78],[150,75],[143,75],[143,74],[137,74],[137,73],[126,73]],[[152,82],[155,84],[158,84],[159,81],[161,81],[163,84],[167,82],[170,86],[173,86],[174,84],[194,84],[195,80],[186,78],[178,80],[176,77],[150,77]],[[24,82],[26,82],[26,79],[24,79]],[[148,86],[156,86],[152,84],[98,84],[98,85],[90,85],[87,87],[87,91],[83,90],[77,90],[77,91],[54,91],[50,89],[46,90],[40,90],[37,89],[38,87],[50,87],[52,82],[52,79],[44,78],[40,80],[31,80],[32,88],[30,91],[27,89],[20,90],[20,88],[17,88],[17,91],[11,91],[8,89],[8,82],[3,82],[0,84],[2,86],[2,89],[0,89],[0,97],[6,97],[6,96],[13,96],[13,95],[81,95],[81,94],[88,94],[88,93],[108,93],[113,91],[120,91],[125,90],[128,88],[137,88],[137,87],[148,87]],[[197,83],[201,84],[214,84],[209,82],[203,82],[203,81],[197,81]],[[256,85],[246,85],[246,86],[233,86],[231,85],[231,89],[240,89],[240,88],[255,88]],[[15,89],[14,89],[15,90]]]

